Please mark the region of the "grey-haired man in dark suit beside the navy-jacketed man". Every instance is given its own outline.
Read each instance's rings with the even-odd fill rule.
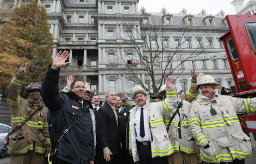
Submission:
[[[117,94],[110,90],[106,92],[106,104],[96,115],[97,129],[97,162],[98,164],[118,164],[120,139],[118,134],[118,113],[114,107]]]

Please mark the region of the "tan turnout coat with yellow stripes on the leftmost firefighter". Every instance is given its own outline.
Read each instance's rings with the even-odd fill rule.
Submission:
[[[38,104],[29,102],[28,99],[19,96],[19,90],[23,83],[23,78],[17,75],[11,80],[5,90],[5,95],[11,110],[11,129],[30,116],[38,107]],[[41,115],[40,115],[41,113]],[[33,146],[34,144],[34,146]],[[7,153],[12,155],[25,154],[32,151],[44,154],[45,147],[50,147],[50,139],[47,123],[47,111],[45,108],[37,111],[24,125],[12,133],[9,140]]]

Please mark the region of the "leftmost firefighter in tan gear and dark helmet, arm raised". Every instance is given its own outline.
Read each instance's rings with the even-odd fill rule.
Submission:
[[[20,87],[25,78],[27,64],[21,63],[17,74],[5,90],[11,110],[11,129],[27,117],[36,113],[23,125],[15,130],[8,141],[7,153],[10,154],[8,164],[43,164],[43,156],[50,153],[50,139],[47,123],[47,112],[39,99],[41,85],[31,82],[25,87],[28,98],[19,96]],[[40,109],[40,110],[39,110]],[[20,124],[19,124],[20,125]]]

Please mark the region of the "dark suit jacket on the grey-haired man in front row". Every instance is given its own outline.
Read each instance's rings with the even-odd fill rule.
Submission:
[[[118,154],[120,149],[118,124],[109,103],[101,106],[97,111],[96,120],[97,154],[103,154],[103,149],[106,147],[113,155]]]

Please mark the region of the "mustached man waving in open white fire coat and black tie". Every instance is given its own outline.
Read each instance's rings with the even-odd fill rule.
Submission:
[[[140,164],[166,164],[166,156],[173,153],[162,115],[173,109],[177,100],[172,80],[167,78],[167,98],[149,103],[148,92],[134,86],[131,98],[136,106],[130,109],[129,152]]]

